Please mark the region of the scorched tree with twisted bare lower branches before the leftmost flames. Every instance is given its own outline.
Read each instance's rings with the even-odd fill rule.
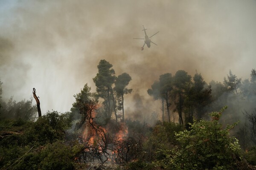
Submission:
[[[79,111],[82,115],[81,122],[77,127],[85,125],[88,128],[90,135],[84,139],[84,152],[82,153],[84,162],[98,161],[104,164],[111,157],[111,136],[104,128],[96,124],[95,111],[98,108],[98,99],[93,96],[87,100],[77,99]]]

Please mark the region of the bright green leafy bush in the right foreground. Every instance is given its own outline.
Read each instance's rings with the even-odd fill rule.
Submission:
[[[222,111],[213,112],[212,121],[200,120],[190,124],[189,130],[176,133],[179,146],[165,150],[166,159],[160,161],[166,167],[177,170],[198,169],[232,169],[236,166],[234,159],[239,157],[240,146],[229,131],[237,123],[222,128],[218,122]]]

